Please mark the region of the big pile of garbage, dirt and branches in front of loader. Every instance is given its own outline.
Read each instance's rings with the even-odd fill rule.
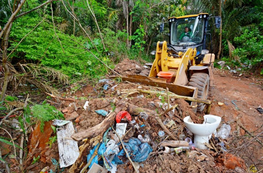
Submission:
[[[131,62],[123,63],[115,68],[122,73],[127,67],[122,74],[145,68],[136,64],[129,69]],[[205,143],[206,149],[199,149],[183,119],[190,116],[202,124],[203,114],[194,113],[185,100],[168,99],[162,93],[166,90],[117,78],[101,79],[96,89],[87,85],[66,98],[50,95],[65,119],[46,121],[42,130],[36,124],[28,138],[24,167],[28,172],[82,173],[246,169],[244,160],[228,152],[229,124],[221,124]]]

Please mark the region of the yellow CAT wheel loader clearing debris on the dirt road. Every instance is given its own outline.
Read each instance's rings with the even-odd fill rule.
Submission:
[[[209,17],[208,13],[171,17],[169,22],[169,43],[158,41],[155,60],[151,69],[140,75],[128,75],[123,80],[169,88],[177,95],[207,99],[209,86],[213,85],[213,62],[215,55],[209,53],[207,39],[208,21],[214,18],[215,27],[220,27],[221,18]],[[163,31],[164,23],[160,25]],[[208,37],[209,36],[209,37]],[[211,44],[212,45],[212,44]],[[189,102],[194,111],[202,112],[205,104]]]

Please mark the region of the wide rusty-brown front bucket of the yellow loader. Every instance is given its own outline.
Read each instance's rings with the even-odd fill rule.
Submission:
[[[117,77],[118,76],[111,76],[111,78],[117,78]],[[139,74],[121,76],[120,78],[122,78],[123,82],[128,81],[132,83],[141,83],[144,85],[155,86],[155,87],[160,87],[164,89],[168,87],[169,91],[175,93],[176,95],[197,98],[197,88],[196,87],[175,85],[173,83],[166,83],[166,79],[152,78],[152,77],[142,76]],[[196,102],[189,101],[188,103],[190,104],[190,106],[192,106],[193,108],[192,110],[196,112]]]

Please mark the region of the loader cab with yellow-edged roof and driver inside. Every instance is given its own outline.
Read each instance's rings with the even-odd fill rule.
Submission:
[[[208,13],[169,18],[169,46],[177,52],[196,48],[197,54],[202,49],[206,49],[208,18]],[[188,28],[188,32],[186,28]]]

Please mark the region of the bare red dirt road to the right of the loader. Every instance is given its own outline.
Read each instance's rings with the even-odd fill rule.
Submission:
[[[262,79],[261,79],[262,80]],[[210,114],[222,117],[222,123],[234,120],[239,114],[242,114],[240,118],[244,127],[254,132],[254,135],[263,131],[263,114],[257,111],[257,107],[261,105],[263,107],[263,86],[257,85],[257,80],[251,80],[247,78],[240,78],[231,76],[219,71],[214,71],[214,86],[210,87],[209,100],[211,100],[212,108]],[[234,103],[231,101],[236,100]],[[223,106],[219,106],[218,102],[225,103]],[[231,124],[231,132],[235,131],[236,123]],[[233,134],[233,133],[232,133]],[[241,135],[244,135],[244,142],[251,140],[253,137],[246,137],[247,133],[241,129]],[[263,135],[258,137],[259,140],[263,140]],[[240,142],[238,145],[242,145]],[[238,154],[242,157],[247,167],[255,163],[258,170],[263,168],[263,147],[254,142],[253,145],[249,144],[248,148],[240,148],[245,150],[243,154]],[[248,150],[247,150],[248,149]]]

